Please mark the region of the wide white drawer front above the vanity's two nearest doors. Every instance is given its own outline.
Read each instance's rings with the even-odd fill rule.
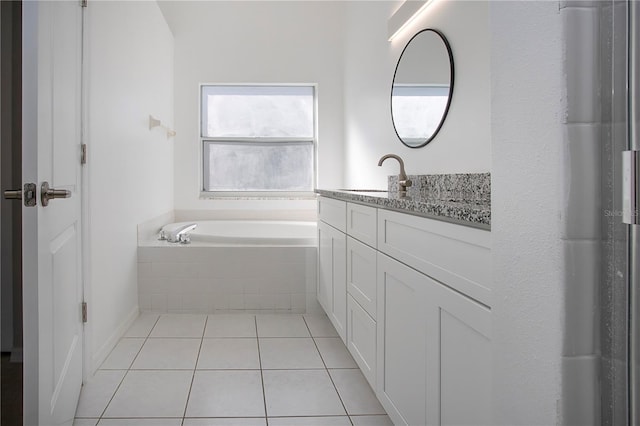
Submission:
[[[378,250],[491,306],[491,233],[378,211]]]

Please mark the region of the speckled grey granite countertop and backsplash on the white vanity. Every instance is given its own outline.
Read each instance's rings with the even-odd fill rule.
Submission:
[[[403,213],[491,229],[489,173],[410,175],[413,185],[398,194],[398,176],[389,176],[388,192],[318,189],[322,196]]]

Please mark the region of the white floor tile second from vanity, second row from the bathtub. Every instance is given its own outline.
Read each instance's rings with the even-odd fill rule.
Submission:
[[[260,359],[267,370],[324,368],[311,338],[260,339]]]

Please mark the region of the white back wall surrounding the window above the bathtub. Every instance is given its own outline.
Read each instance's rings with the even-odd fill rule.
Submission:
[[[200,83],[317,83],[318,187],[342,184],[343,2],[161,2],[175,37],[177,210],[315,210],[315,201],[200,200]]]

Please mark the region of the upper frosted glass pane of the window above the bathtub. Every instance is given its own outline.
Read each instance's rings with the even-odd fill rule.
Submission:
[[[310,86],[203,86],[203,137],[312,139]]]

